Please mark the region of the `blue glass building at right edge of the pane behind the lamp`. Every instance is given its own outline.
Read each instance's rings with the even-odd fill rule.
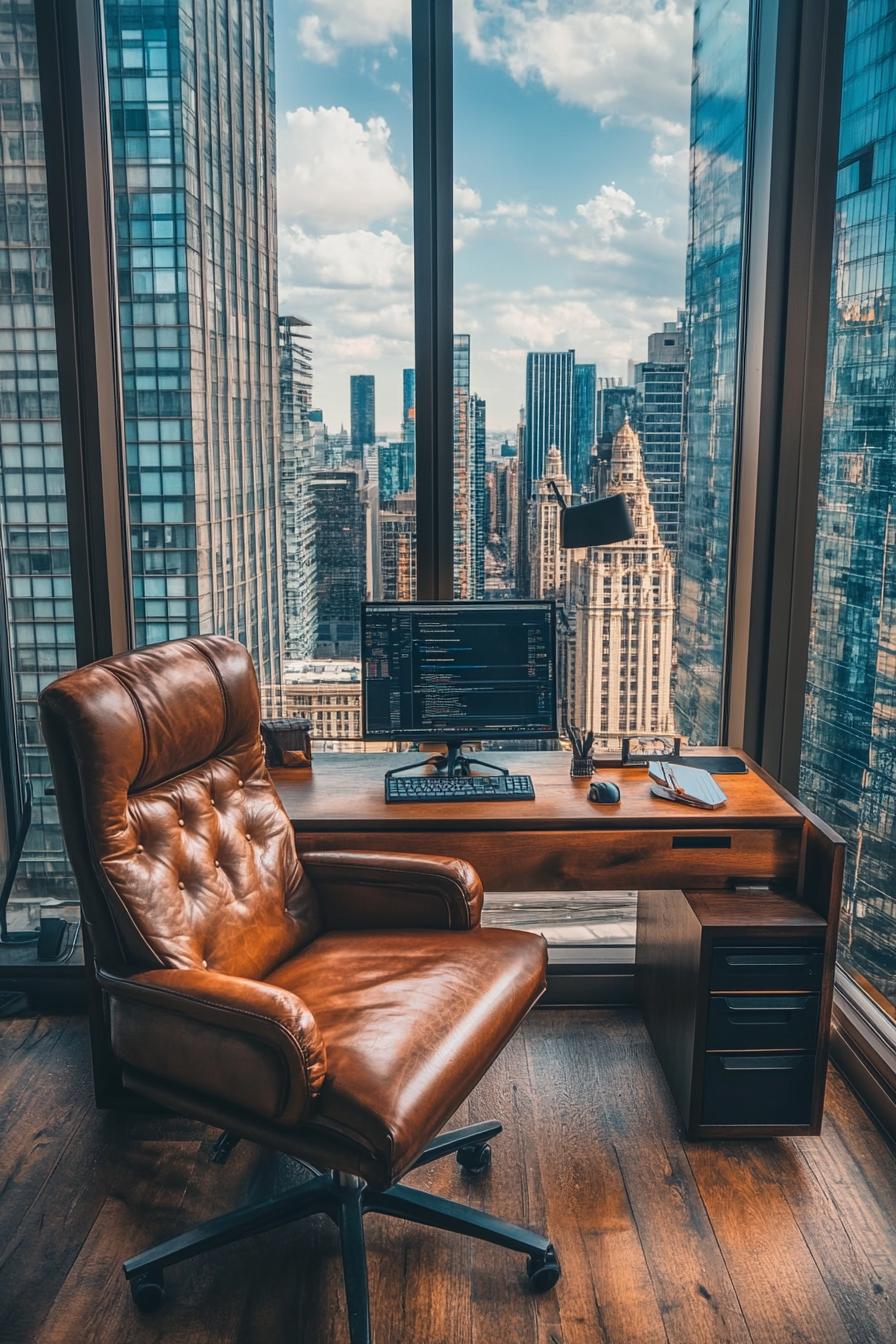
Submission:
[[[719,741],[740,320],[750,0],[700,0],[690,99],[677,730]]]

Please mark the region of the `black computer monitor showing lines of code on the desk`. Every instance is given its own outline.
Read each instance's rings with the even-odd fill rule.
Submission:
[[[462,742],[557,735],[553,602],[365,602],[364,737]]]

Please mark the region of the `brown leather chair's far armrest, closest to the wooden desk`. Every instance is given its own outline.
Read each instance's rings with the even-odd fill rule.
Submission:
[[[477,929],[482,883],[462,859],[300,853],[326,929]]]

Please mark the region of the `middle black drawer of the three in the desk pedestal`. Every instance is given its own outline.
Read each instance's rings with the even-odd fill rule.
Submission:
[[[818,995],[713,995],[707,1050],[814,1050]]]

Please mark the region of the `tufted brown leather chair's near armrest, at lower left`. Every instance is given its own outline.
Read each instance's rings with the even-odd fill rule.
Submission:
[[[305,1120],[326,1051],[298,995],[214,970],[101,970],[98,978],[125,1063],[266,1120]]]

